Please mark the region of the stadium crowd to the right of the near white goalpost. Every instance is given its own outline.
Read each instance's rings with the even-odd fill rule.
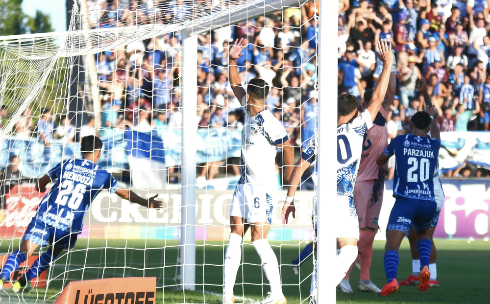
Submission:
[[[339,94],[363,100],[364,91],[373,87],[382,70],[375,42],[386,39],[397,64],[397,92],[386,124],[390,139],[409,132],[411,117],[425,108],[417,90],[419,77],[427,80],[442,132],[488,131],[488,2],[340,0]],[[490,176],[487,171],[468,164],[446,175]]]

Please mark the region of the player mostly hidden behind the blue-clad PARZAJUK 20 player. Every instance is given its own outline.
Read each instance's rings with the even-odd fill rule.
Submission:
[[[427,83],[425,79],[421,79],[421,86],[418,88],[420,93],[424,94],[425,106],[427,108],[432,107],[432,101],[429,94],[427,94]],[[437,264],[436,264],[436,245],[434,244],[434,232],[436,231],[437,223],[439,221],[439,214],[441,213],[442,205],[444,204],[444,191],[442,190],[441,178],[439,176],[439,162],[437,163],[436,169],[434,170],[434,198],[437,203],[437,210],[434,218],[430,223],[429,229],[427,229],[427,235],[432,242],[432,249],[430,252],[430,286],[439,286],[439,280],[437,279]],[[410,250],[412,252],[412,274],[404,281],[400,282],[400,285],[404,286],[417,286],[418,278],[420,273],[420,258],[417,251],[417,237],[415,235],[414,229],[411,228],[408,234],[408,240],[410,241]]]

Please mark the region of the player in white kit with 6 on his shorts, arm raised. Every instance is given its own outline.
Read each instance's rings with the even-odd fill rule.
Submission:
[[[250,227],[252,244],[259,254],[270,283],[270,293],[263,304],[286,304],[282,293],[277,257],[267,241],[272,222],[274,196],[277,192],[275,157],[277,148],[284,151],[285,183],[294,166],[294,148],[283,125],[265,108],[269,86],[263,79],[251,79],[246,92],[240,82],[236,60],[243,55],[246,40],[235,41],[229,51],[230,85],[246,107],[242,130],[241,177],[230,209],[231,233],[224,259],[222,304],[235,303],[233,287],[240,267],[243,235]],[[235,67],[233,67],[235,66]]]

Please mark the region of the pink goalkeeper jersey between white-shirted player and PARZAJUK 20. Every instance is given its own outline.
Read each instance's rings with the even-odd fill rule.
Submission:
[[[385,109],[380,108],[372,127],[364,135],[363,153],[356,182],[378,179],[379,166],[376,159],[388,146],[387,116]]]

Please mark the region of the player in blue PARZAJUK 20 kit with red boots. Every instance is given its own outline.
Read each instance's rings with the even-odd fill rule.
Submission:
[[[384,265],[388,280],[381,290],[382,296],[398,291],[398,249],[405,235],[409,234],[410,227],[415,231],[420,257],[418,289],[425,291],[430,286],[431,240],[427,230],[437,210],[434,172],[441,148],[439,127],[433,116],[434,106],[427,112],[416,113],[410,124],[413,133],[394,138],[376,160],[378,165],[383,165],[394,155],[396,162],[393,178],[396,201],[386,228]],[[427,137],[429,131],[432,138]]]

